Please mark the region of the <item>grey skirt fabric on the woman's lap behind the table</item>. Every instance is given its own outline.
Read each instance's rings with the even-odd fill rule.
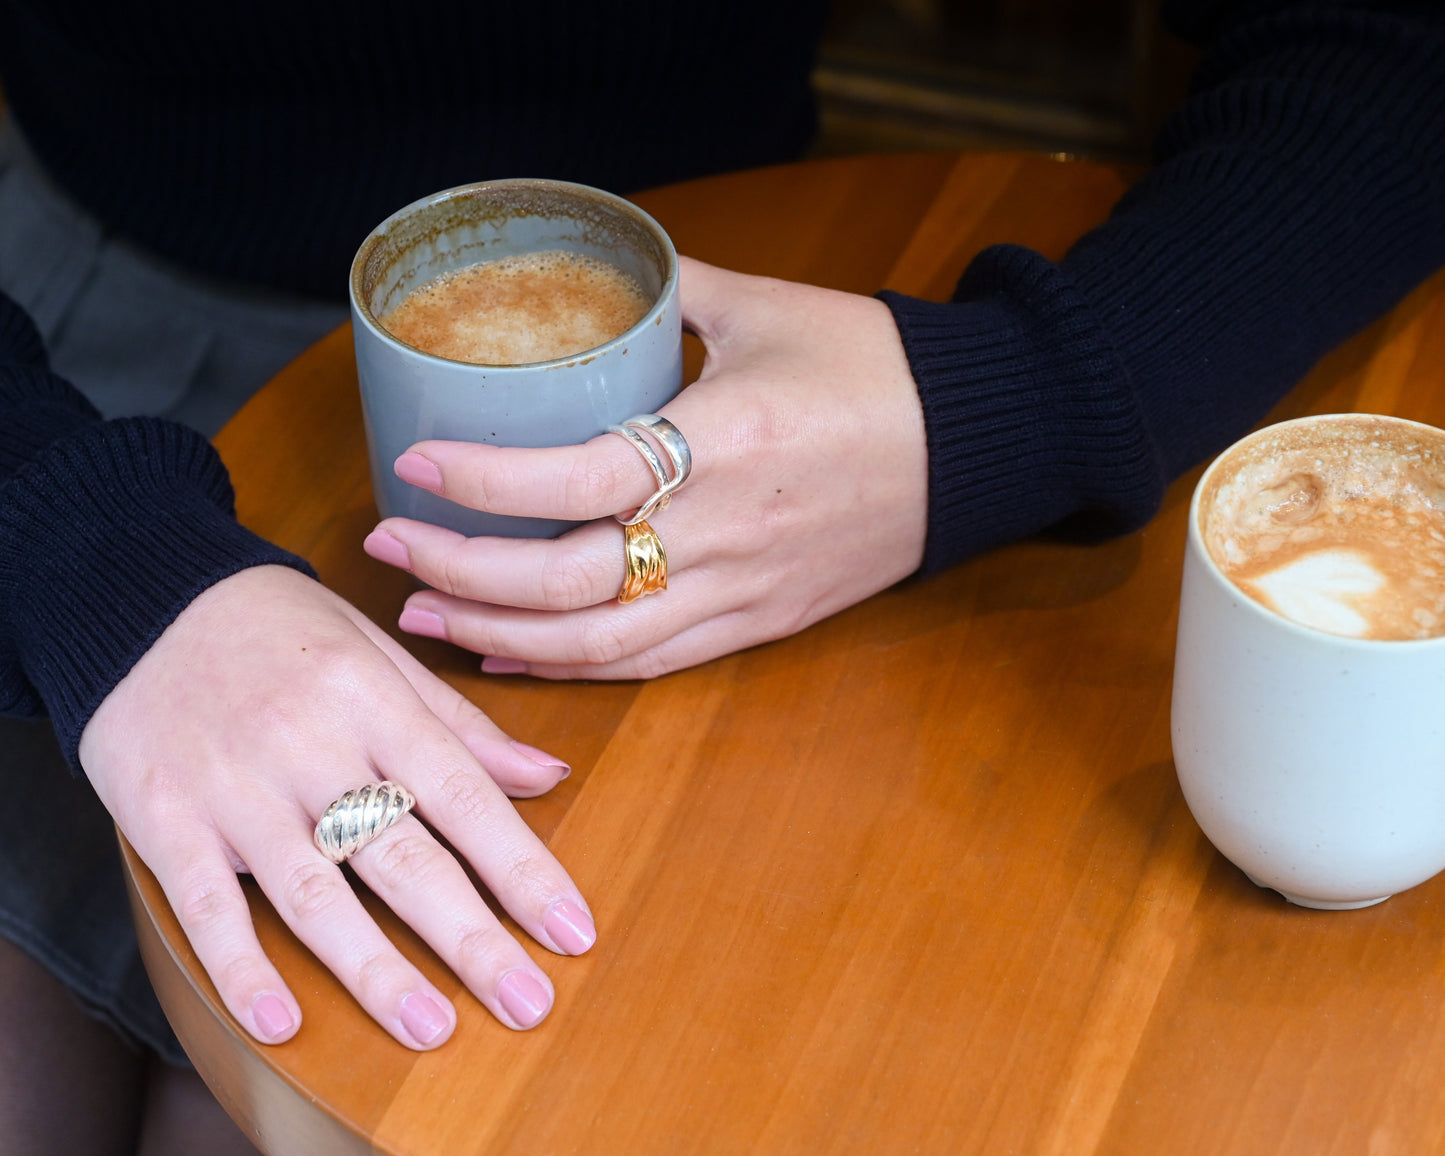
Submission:
[[[207,436],[347,316],[188,276],[107,236],[13,124],[0,124],[0,289],[107,418],[169,416]],[[186,1064],[140,962],[110,815],[48,724],[0,720],[0,935],[127,1042]]]

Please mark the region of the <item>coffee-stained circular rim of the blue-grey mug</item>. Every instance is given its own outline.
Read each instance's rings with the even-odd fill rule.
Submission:
[[[660,243],[663,256],[663,277],[662,285],[657,289],[657,299],[652,303],[646,314],[643,314],[633,325],[626,328],[623,332],[610,341],[604,341],[601,345],[592,345],[587,350],[568,354],[566,357],[553,357],[546,361],[516,361],[510,364],[490,364],[484,361],[460,361],[454,357],[442,357],[441,354],[429,353],[428,350],[418,348],[406,341],[402,341],[393,332],[390,332],[377,319],[371,306],[363,301],[361,295],[361,272],[366,267],[366,262],[370,253],[381,243],[386,237],[387,230],[396,223],[422,211],[432,208],[435,205],[445,204],[447,201],[462,199],[468,197],[475,197],[487,189],[501,189],[501,188],[536,188],[555,192],[565,192],[579,195],[582,199],[601,201],[607,207],[620,211],[623,214],[637,218],[637,223],[653,234],[653,237]],[[597,357],[603,357],[605,353],[611,351],[617,345],[626,344],[630,338],[634,338],[647,325],[655,325],[663,311],[668,308],[669,301],[676,295],[678,285],[678,250],[672,243],[672,237],[668,236],[657,221],[640,205],[633,204],[626,197],[620,197],[616,192],[608,192],[607,189],[600,189],[594,185],[582,185],[577,181],[556,181],[545,176],[506,176],[496,178],[490,181],[474,181],[465,185],[452,185],[447,189],[439,189],[431,192],[425,197],[419,197],[410,204],[402,205],[399,210],[387,215],[380,221],[373,230],[366,236],[361,244],[357,247],[355,254],[351,257],[351,270],[347,280],[347,295],[351,299],[351,316],[353,321],[360,319],[366,328],[380,338],[387,345],[412,354],[415,357],[425,358],[428,361],[436,361],[442,366],[461,366],[477,370],[486,374],[506,374],[506,373],[535,373],[542,368],[556,368],[559,366],[577,366],[585,361],[591,361]]]

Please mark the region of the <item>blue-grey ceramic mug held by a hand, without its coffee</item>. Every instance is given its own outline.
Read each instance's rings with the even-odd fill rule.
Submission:
[[[652,308],[597,348],[526,366],[477,366],[423,353],[377,321],[412,289],[467,264],[562,249],[630,273]],[[646,212],[562,181],[487,181],[393,212],[351,263],[351,321],[371,486],[383,517],[468,536],[555,538],[575,523],[471,510],[407,486],[392,464],[426,439],[577,445],[653,413],[682,387],[678,254]]]

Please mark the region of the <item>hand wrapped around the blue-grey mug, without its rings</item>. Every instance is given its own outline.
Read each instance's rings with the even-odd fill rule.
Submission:
[[[649,519],[668,552],[666,592],[617,603],[623,535],[610,516],[656,486],[623,438],[420,442],[396,462],[415,486],[588,525],[545,542],[387,519],[368,553],[434,588],[409,598],[405,630],[486,655],[496,673],[646,678],[792,634],[918,568],[923,418],[887,306],[686,259],[681,289],[707,361],[662,410],[694,458]]]

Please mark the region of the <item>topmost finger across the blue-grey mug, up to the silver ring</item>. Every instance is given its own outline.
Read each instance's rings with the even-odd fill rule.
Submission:
[[[474,510],[591,522],[639,506],[656,481],[623,438],[523,449],[478,442],[418,442],[393,465],[402,481]]]

